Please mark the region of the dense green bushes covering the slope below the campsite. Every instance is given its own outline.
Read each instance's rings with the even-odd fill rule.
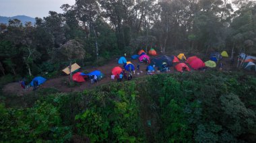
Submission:
[[[0,138],[3,142],[253,142],[255,81],[243,73],[177,73],[81,93],[44,89],[24,97],[8,95],[0,104]]]

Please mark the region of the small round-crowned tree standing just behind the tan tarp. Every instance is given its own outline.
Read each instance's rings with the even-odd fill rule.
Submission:
[[[82,60],[86,56],[86,51],[84,50],[84,46],[77,42],[76,40],[69,40],[65,44],[61,45],[59,52],[69,60],[69,73],[70,73],[70,80],[72,80],[72,73],[71,73],[71,65],[72,61],[75,59]],[[59,54],[59,53],[57,53]]]

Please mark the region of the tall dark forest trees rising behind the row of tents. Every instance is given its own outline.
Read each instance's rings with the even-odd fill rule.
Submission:
[[[255,53],[256,6],[251,0],[76,0],[61,9],[64,13],[36,17],[34,25],[18,19],[0,24],[1,75],[52,77],[71,60],[82,66],[102,64],[140,48]],[[63,54],[65,47],[76,52]],[[77,58],[65,58],[73,54]]]

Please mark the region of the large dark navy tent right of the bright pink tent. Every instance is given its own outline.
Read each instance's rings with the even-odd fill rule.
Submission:
[[[158,58],[151,58],[150,65],[158,66],[159,68],[162,67],[162,63],[166,62],[167,66],[172,66],[173,58],[170,56],[160,56]]]

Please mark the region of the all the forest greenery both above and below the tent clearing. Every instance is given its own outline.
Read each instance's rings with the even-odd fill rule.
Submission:
[[[0,23],[0,142],[255,142],[256,76],[236,65],[74,92],[18,95],[3,87],[64,77],[71,63],[99,67],[141,49],[205,57],[226,50],[235,61],[256,55],[256,1],[75,0],[60,7],[63,13],[49,11],[34,24]]]

